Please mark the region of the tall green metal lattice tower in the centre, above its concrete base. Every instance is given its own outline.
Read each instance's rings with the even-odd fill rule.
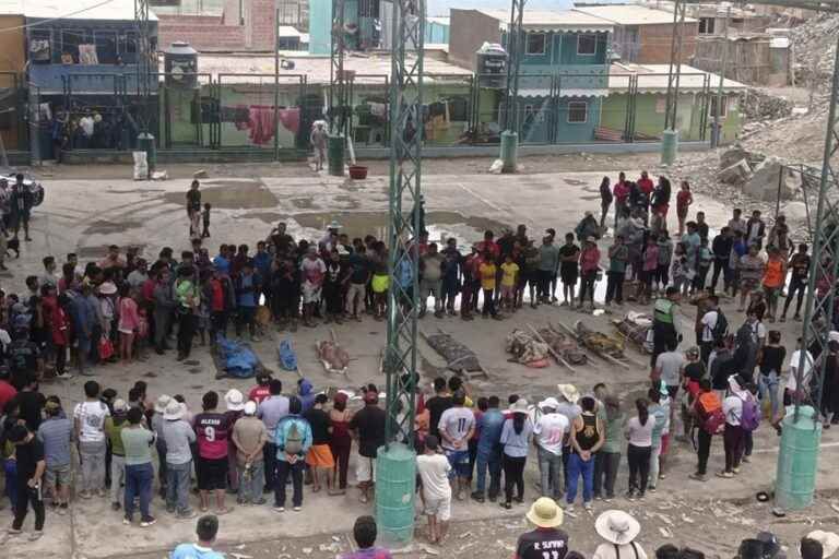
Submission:
[[[403,441],[412,447],[421,227],[421,212],[413,209],[420,204],[422,179],[425,0],[397,0],[393,9],[386,433],[388,443]],[[407,289],[401,285],[405,266],[412,278]]]

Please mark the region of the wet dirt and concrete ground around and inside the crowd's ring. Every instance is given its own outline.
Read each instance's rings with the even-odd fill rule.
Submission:
[[[588,156],[532,159],[523,159],[525,169],[530,168],[531,173],[515,176],[477,173],[468,167],[473,165],[474,169],[480,169],[484,164],[488,167],[488,159],[444,159],[427,164],[423,189],[433,238],[454,236],[461,246],[469,246],[480,239],[487,227],[497,230],[501,226],[524,224],[532,235],[539,235],[545,227],[570,230],[583,211],[598,209],[598,185],[604,174],[614,178],[621,169],[628,176],[637,176],[646,163],[654,163],[652,158],[645,162],[643,158],[599,159],[596,156],[591,156],[591,160]],[[539,165],[544,165],[542,173],[535,171]],[[47,179],[46,201],[33,215],[34,240],[24,243],[21,258],[8,262],[11,271],[0,276],[0,286],[7,293],[22,289],[26,275],[39,274],[40,259],[46,254],[55,254],[63,261],[67,252],[75,251],[81,261],[86,262],[102,257],[105,247],[115,242],[123,247],[137,245],[144,255],[154,259],[164,246],[173,247],[176,253],[188,247],[182,200],[194,167],[170,168],[170,176],[182,178],[151,183],[131,181],[126,178],[128,169],[118,167],[50,170],[54,176]],[[374,166],[366,181],[316,175],[302,166],[277,166],[275,174],[269,174],[261,166],[221,166],[206,170],[209,178],[202,180],[202,189],[205,200],[212,201],[215,209],[209,242],[211,254],[215,253],[220,242],[253,245],[280,219],[288,223],[293,235],[315,239],[322,235],[324,225],[335,218],[353,236],[370,231],[383,235],[386,230],[388,180],[383,166]],[[694,207],[704,210],[711,225],[726,219],[730,212],[724,200],[704,195],[697,195]],[[605,251],[605,242],[601,245],[601,250]],[[603,285],[598,286],[599,300],[603,289]],[[730,323],[738,326],[742,317],[735,308],[730,300],[723,302]],[[621,312],[629,310],[648,309],[628,304]],[[477,354],[489,378],[470,383],[473,395],[506,397],[516,392],[535,402],[555,394],[555,386],[560,382],[572,382],[584,393],[594,383],[603,381],[621,396],[628,409],[631,400],[642,393],[649,374],[648,357],[635,348],[626,349],[627,359],[622,365],[591,356],[589,365],[575,371],[555,364],[545,369],[530,369],[508,362],[509,356],[504,350],[505,336],[516,328],[547,324],[558,328],[559,323],[572,326],[582,320],[590,328],[611,333],[610,320],[618,316],[618,310],[614,314],[592,316],[565,307],[541,306],[508,314],[500,322],[427,317],[421,322],[421,329],[425,332],[442,329]],[[693,342],[694,319],[694,310],[685,306],[680,316],[685,346]],[[801,331],[801,324],[796,322],[773,328],[783,332],[788,349]],[[315,344],[329,336],[324,328],[303,329],[294,334],[268,333],[262,342],[253,344],[253,348],[287,390],[294,385],[297,376],[279,368],[276,346],[281,338],[292,341],[302,372],[312,380],[317,390],[328,386],[355,390],[366,382],[382,384],[379,358],[385,344],[385,324],[365,318],[361,324],[345,323],[335,326],[334,331],[354,359],[347,378],[326,373],[317,360]],[[420,372],[427,386],[446,364],[425,342],[420,342],[418,352]],[[180,393],[193,409],[198,408],[206,390],[224,394],[231,388],[246,391],[252,384],[252,380],[215,380],[215,376],[209,353],[197,347],[192,359],[185,364],[177,364],[172,355],[152,355],[146,361],[99,368],[96,378],[104,386],[115,388],[121,396],[134,381],[143,379],[149,382],[152,397],[161,393]],[[59,395],[69,409],[81,399],[85,380],[48,382],[43,385],[43,391]],[[759,504],[754,499],[757,491],[771,489],[777,452],[777,436],[771,429],[761,428],[756,435],[752,463],[744,467],[738,478],[711,477],[708,483],[700,484],[687,480],[696,460],[690,447],[674,444],[667,463],[667,478],[660,483],[657,493],[649,495],[642,503],[624,499],[616,499],[611,504],[599,502],[594,512],[599,514],[607,508],[631,510],[642,523],[641,542],[648,552],[670,542],[696,547],[709,556],[731,557],[742,537],[760,528],[778,531],[784,544],[794,549],[794,542],[810,530],[819,526],[835,530],[839,508],[831,506],[831,499],[832,491],[839,489],[839,477],[832,464],[839,455],[839,436],[836,430],[824,433],[817,484],[820,492],[816,504],[785,519],[775,519],[769,506]],[[722,457],[721,441],[716,441],[709,464],[711,472],[721,467]],[[536,496],[536,464],[532,457],[525,475],[525,502],[530,503]],[[621,491],[625,490],[626,479],[624,463],[618,474]],[[524,507],[507,512],[489,503],[456,502],[453,509],[454,526],[448,543],[441,548],[414,548],[405,557],[508,558],[516,537],[525,530]],[[29,544],[14,538],[7,542],[3,549],[15,559],[48,555],[72,559],[129,555],[159,558],[177,543],[193,538],[191,521],[169,518],[162,512],[157,499],[153,510],[159,521],[143,531],[123,526],[119,515],[110,512],[107,499],[83,501],[73,506],[68,516],[48,513],[47,533],[39,542]],[[373,507],[361,504],[354,491],[329,498],[322,492],[312,495],[307,490],[302,513],[277,515],[261,507],[238,508],[224,516],[220,547],[234,559],[334,557],[350,549],[347,534],[354,519],[371,512]],[[0,522],[9,520],[8,510],[0,512]],[[566,527],[571,535],[571,548],[589,557],[596,544],[592,519],[579,513],[568,519]],[[417,543],[423,542],[418,535]]]

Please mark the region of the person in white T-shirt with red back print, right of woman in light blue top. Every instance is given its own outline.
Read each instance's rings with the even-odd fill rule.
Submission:
[[[557,413],[559,402],[548,397],[539,404],[542,415],[533,427],[539,451],[539,473],[542,484],[542,497],[553,496],[559,500],[563,496],[563,440],[570,424],[568,418]]]

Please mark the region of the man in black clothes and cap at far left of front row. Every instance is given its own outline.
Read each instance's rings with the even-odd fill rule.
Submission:
[[[7,436],[9,442],[14,444],[14,454],[17,465],[16,492],[17,504],[14,509],[14,521],[9,530],[9,535],[22,533],[23,521],[26,520],[29,504],[35,511],[35,531],[29,534],[29,542],[34,542],[44,535],[44,495],[42,478],[47,468],[44,460],[44,445],[23,425],[15,425]]]

